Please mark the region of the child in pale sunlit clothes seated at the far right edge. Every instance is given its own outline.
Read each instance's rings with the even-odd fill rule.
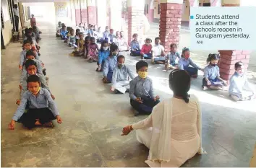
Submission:
[[[255,89],[249,84],[244,73],[244,63],[235,63],[236,72],[231,76],[229,95],[234,101],[244,101],[255,99]]]

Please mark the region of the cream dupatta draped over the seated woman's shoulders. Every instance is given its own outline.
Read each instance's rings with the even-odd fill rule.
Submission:
[[[192,100],[192,99],[191,99]],[[197,102],[197,100],[196,100]],[[171,103],[171,106],[168,105]],[[170,107],[170,108],[169,108]],[[169,162],[171,159],[171,118],[172,118],[173,98],[163,100],[163,108],[161,110],[155,109],[152,112],[153,127],[152,138],[150,141],[150,151],[148,160],[152,162]],[[198,122],[197,130],[200,136],[200,149],[198,154],[207,154],[202,149],[202,125],[201,125],[201,110],[198,107]]]

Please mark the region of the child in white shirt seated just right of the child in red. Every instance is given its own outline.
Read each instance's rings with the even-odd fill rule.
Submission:
[[[155,45],[152,47],[152,63],[166,63],[166,53],[164,53],[163,45],[160,43],[160,38],[155,37]]]

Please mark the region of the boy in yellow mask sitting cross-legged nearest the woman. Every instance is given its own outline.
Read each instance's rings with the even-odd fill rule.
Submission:
[[[129,97],[135,116],[139,114],[150,115],[153,107],[159,103],[159,96],[154,95],[152,80],[148,77],[148,63],[139,61],[136,63],[135,79],[129,82]]]

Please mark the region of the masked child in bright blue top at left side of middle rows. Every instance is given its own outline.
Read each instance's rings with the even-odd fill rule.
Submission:
[[[98,52],[98,68],[96,71],[103,71],[106,58],[109,56],[108,41],[104,40],[101,43],[101,49]]]

